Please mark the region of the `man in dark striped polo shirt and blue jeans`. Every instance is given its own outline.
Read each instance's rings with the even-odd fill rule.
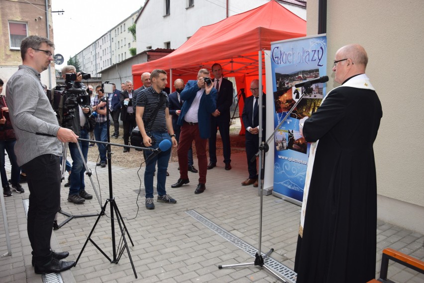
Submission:
[[[172,128],[172,118],[169,114],[168,94],[163,91],[167,84],[167,74],[164,70],[153,70],[150,75],[150,80],[152,85],[137,94],[136,102],[135,119],[141,136],[143,137],[144,145],[156,149],[159,147],[161,141],[168,139],[171,140],[172,145],[176,147],[178,143],[175,138],[174,129]],[[161,106],[158,109],[157,107],[160,103]],[[146,160],[148,160],[153,152],[146,151],[145,153]],[[168,169],[170,157],[171,149],[168,149],[153,156],[146,164],[144,188],[146,190],[147,209],[155,208],[155,204],[153,203],[153,174],[155,173],[156,163],[158,164],[156,185],[158,191],[157,201],[166,203],[177,202],[166,193],[165,189],[166,171]]]

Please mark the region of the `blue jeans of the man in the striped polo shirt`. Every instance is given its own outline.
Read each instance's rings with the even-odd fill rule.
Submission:
[[[170,140],[168,132],[150,132],[155,138],[155,145],[151,148],[158,148],[159,143],[165,139]],[[153,153],[152,151],[145,151],[146,159]],[[159,196],[166,194],[165,182],[166,182],[166,170],[168,169],[169,158],[171,157],[171,149],[162,151],[146,164],[146,170],[144,172],[144,188],[146,189],[146,198],[153,197],[153,173],[155,172],[156,163],[158,164],[157,174],[157,185]]]

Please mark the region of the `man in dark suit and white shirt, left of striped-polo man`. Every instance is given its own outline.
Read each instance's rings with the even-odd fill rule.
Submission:
[[[135,122],[135,111],[132,107],[132,96],[134,94],[134,91],[132,90],[132,82],[130,80],[125,81],[125,87],[126,90],[123,91],[119,96],[119,103],[121,105],[121,121],[124,130],[124,144],[128,145],[129,134],[137,124]],[[129,148],[125,147],[123,152],[129,152]]]

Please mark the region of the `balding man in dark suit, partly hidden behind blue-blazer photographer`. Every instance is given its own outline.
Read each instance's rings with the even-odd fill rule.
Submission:
[[[183,100],[180,98],[181,92],[184,90],[184,81],[182,79],[177,79],[174,82],[175,92],[169,94],[169,113],[172,116],[172,127],[174,129],[174,134],[177,139],[177,142],[180,140],[181,127],[177,124],[178,117],[180,116],[181,106],[183,106]],[[193,173],[198,173],[199,171],[193,165],[193,148],[190,146],[188,153],[189,160],[189,171]]]

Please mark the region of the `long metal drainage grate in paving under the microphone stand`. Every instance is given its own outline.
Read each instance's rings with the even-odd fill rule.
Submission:
[[[238,237],[234,236],[227,230],[223,229],[222,227],[216,225],[208,218],[204,217],[203,215],[199,214],[195,210],[187,210],[187,214],[192,216],[194,219],[211,229],[213,232],[227,240],[228,242],[232,243],[237,248],[241,249],[242,251],[246,252],[253,258],[255,258],[255,254],[258,252],[257,249],[249,245],[248,243],[244,242],[243,240],[240,240]],[[265,254],[262,253],[264,256]],[[293,270],[289,269],[285,265],[279,263],[278,261],[274,260],[271,257],[267,257],[264,261],[265,265],[269,267],[270,269],[274,270],[276,273],[281,275],[282,277],[290,280],[293,283],[296,283],[296,277],[297,274]]]

